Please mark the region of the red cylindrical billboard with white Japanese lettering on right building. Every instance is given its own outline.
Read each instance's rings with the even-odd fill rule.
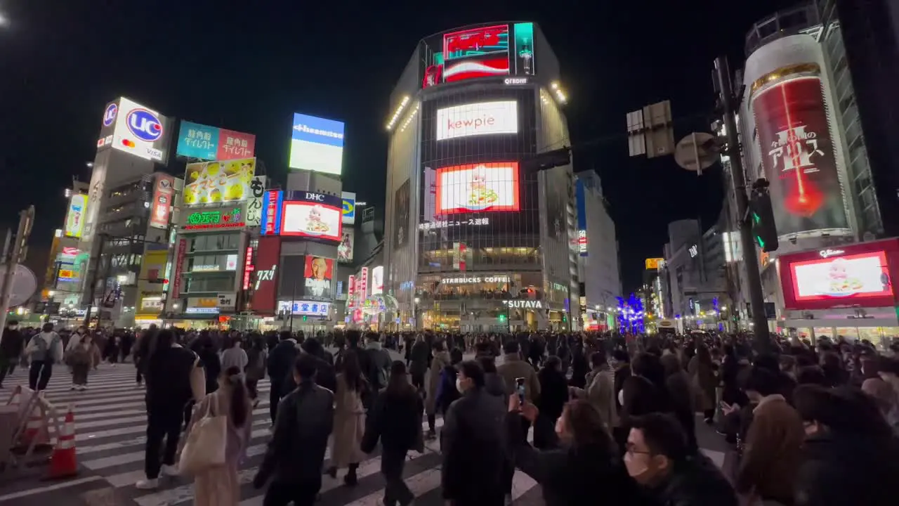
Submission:
[[[780,236],[849,229],[818,72],[811,64],[792,72],[778,69],[759,79],[767,87],[752,95],[761,164]],[[767,85],[775,75],[783,80]]]

